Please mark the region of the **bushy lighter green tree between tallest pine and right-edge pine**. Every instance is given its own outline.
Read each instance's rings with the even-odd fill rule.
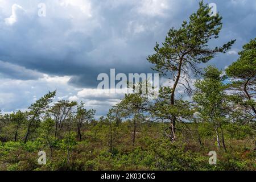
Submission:
[[[225,93],[225,85],[222,83],[223,79],[220,76],[221,73],[215,67],[207,67],[204,79],[197,80],[195,83],[196,92],[193,96],[193,101],[196,102],[197,117],[202,122],[212,123],[218,147],[221,146],[221,132],[222,146],[226,151],[222,125],[227,122],[228,100]]]

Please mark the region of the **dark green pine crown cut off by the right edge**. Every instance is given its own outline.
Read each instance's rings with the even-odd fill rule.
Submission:
[[[240,58],[226,69],[233,101],[247,113],[248,121],[256,121],[256,38],[239,52]]]

